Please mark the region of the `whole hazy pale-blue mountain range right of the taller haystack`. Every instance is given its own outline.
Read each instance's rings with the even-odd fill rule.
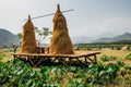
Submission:
[[[111,41],[120,41],[120,40],[131,40],[131,34],[124,33],[121,35],[115,35],[111,34],[107,35],[105,33],[103,36],[96,36],[96,37],[87,37],[87,36],[78,36],[78,37],[71,37],[73,44],[88,44],[88,42],[111,42]],[[103,37],[103,38],[99,38]],[[98,39],[97,39],[98,38]]]

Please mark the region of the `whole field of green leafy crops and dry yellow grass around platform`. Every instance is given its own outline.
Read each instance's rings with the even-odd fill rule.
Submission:
[[[83,52],[82,50],[80,52]],[[131,51],[100,50],[98,63],[86,67],[63,65],[32,67],[22,61],[12,61],[11,52],[0,61],[0,86],[5,87],[130,87],[131,60],[126,57]],[[1,51],[1,57],[2,57]],[[102,60],[105,58],[106,60]],[[116,59],[107,60],[109,57]],[[110,58],[109,58],[110,59]],[[10,62],[8,62],[10,61]]]

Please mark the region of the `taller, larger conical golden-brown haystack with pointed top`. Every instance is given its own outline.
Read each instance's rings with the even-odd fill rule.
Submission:
[[[68,34],[67,21],[62,15],[59,4],[58,10],[52,20],[53,22],[53,32],[50,41],[50,54],[72,54],[73,46]]]

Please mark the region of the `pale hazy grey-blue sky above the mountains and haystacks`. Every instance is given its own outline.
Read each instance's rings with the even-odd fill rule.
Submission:
[[[0,28],[22,32],[25,18],[55,13],[57,4],[67,18],[70,36],[131,33],[131,0],[0,0]],[[53,15],[33,20],[34,26],[52,30]]]

